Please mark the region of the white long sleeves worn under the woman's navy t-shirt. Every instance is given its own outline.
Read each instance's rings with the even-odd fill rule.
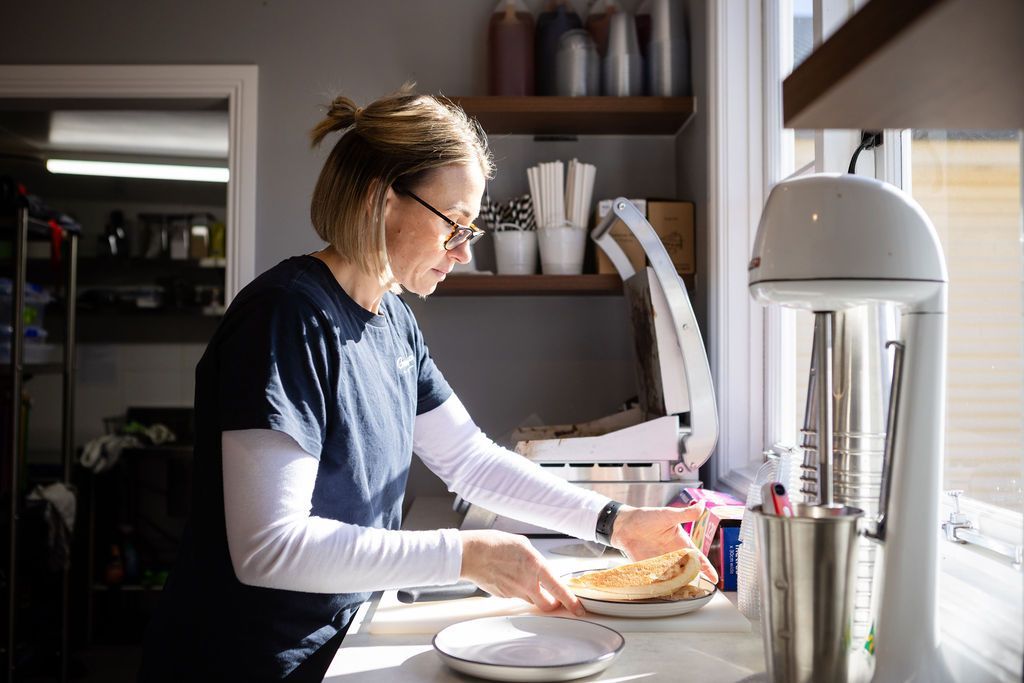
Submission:
[[[319,461],[292,437],[269,429],[225,431],[221,445],[227,545],[242,583],[358,593],[459,580],[462,542],[457,529],[391,530],[311,516]],[[455,394],[417,416],[413,446],[449,490],[467,501],[594,539],[597,516],[608,499],[496,444]]]

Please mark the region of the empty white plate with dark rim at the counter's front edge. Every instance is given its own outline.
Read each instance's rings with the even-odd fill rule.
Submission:
[[[492,681],[583,678],[607,669],[625,644],[613,629],[561,616],[486,616],[434,636],[444,664]]]

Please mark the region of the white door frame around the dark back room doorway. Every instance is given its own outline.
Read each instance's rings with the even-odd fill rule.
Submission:
[[[224,302],[256,272],[257,68],[240,66],[53,65],[0,67],[0,99],[226,98],[227,259]]]

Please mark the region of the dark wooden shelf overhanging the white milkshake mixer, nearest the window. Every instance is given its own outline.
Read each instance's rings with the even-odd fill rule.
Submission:
[[[1021,0],[871,0],[785,79],[785,126],[1022,128],[1022,26]]]

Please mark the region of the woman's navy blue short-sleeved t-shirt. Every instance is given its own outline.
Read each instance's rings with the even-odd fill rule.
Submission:
[[[310,514],[398,528],[414,419],[451,393],[393,294],[371,313],[311,256],[283,261],[243,289],[196,369],[193,508],[141,679],[282,678],[369,597],[239,582],[224,524],[221,432],[290,435],[319,460]]]

